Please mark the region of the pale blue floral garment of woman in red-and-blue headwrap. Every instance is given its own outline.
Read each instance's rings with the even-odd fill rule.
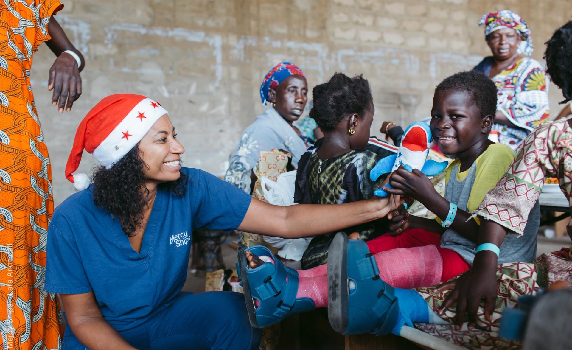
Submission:
[[[292,153],[292,165],[297,167],[306,145],[275,109],[268,108],[244,130],[228,162],[224,180],[249,193],[251,171],[258,164],[260,152],[271,149]]]

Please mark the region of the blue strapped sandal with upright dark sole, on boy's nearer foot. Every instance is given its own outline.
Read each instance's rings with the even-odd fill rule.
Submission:
[[[355,288],[349,290],[353,281]],[[394,288],[379,277],[366,242],[337,233],[328,253],[328,319],[343,335],[386,335],[399,315]]]

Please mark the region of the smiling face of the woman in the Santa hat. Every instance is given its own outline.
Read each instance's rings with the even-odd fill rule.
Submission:
[[[146,182],[161,184],[177,180],[181,174],[181,154],[185,148],[177,141],[175,128],[165,114],[139,142],[141,157],[147,168]]]

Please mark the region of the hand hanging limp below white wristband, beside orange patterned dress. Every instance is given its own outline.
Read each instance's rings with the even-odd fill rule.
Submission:
[[[55,106],[59,101],[59,113],[62,113],[64,108],[67,112],[72,110],[73,102],[81,95],[80,69],[72,55],[62,53],[55,59],[50,68],[47,89],[54,90],[51,104]]]

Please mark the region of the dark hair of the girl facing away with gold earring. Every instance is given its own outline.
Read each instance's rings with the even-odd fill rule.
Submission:
[[[353,113],[363,118],[373,101],[367,79],[361,74],[350,78],[343,73],[335,73],[328,82],[316,85],[312,98],[308,116],[324,131],[336,129],[343,118]]]

